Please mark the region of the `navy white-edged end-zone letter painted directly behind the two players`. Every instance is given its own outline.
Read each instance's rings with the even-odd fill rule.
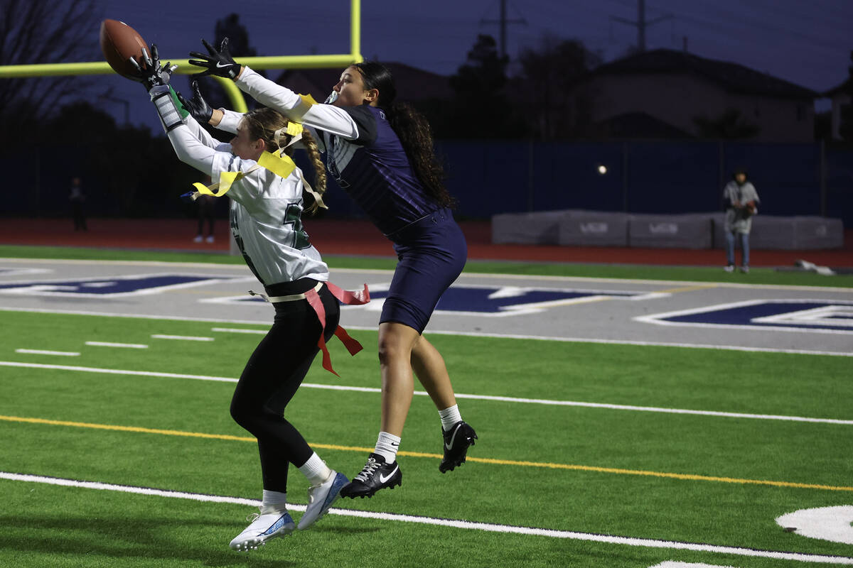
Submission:
[[[368,284],[370,301],[363,306],[341,306],[342,310],[380,312],[390,284]],[[532,288],[527,286],[451,286],[438,300],[435,313],[449,315],[504,317],[541,313],[549,308],[600,300],[647,300],[669,294],[629,290],[581,290]],[[200,300],[212,303],[240,304],[264,301],[258,296],[233,295]]]

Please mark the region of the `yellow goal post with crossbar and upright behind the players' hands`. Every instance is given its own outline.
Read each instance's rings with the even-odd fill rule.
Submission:
[[[361,0],[350,0],[350,53],[339,55],[276,55],[268,57],[241,57],[242,65],[252,69],[320,69],[345,67],[364,60],[361,55]],[[189,65],[189,60],[175,60],[160,57],[160,60],[177,64],[176,74],[190,75],[198,72],[198,67]],[[107,61],[88,61],[84,63],[42,63],[38,65],[0,66],[0,79],[11,77],[49,77],[57,75],[108,75],[113,68]],[[233,81],[222,77],[213,77],[225,89],[236,112],[247,112],[246,100]]]

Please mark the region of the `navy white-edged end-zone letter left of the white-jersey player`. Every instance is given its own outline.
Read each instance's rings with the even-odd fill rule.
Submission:
[[[58,295],[65,297],[119,297],[157,294],[164,290],[214,284],[243,277],[213,278],[205,274],[138,274],[102,278],[66,278],[62,280],[28,280],[0,284],[0,294]]]

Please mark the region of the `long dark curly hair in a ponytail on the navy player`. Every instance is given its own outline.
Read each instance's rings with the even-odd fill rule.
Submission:
[[[353,66],[362,74],[365,89],[379,91],[376,106],[385,111],[388,123],[400,139],[403,151],[409,158],[409,164],[415,171],[418,181],[421,181],[421,185],[424,186],[424,191],[439,205],[456,206],[456,199],[444,186],[446,178],[444,166],[435,154],[432,128],[427,118],[417,112],[413,106],[395,101],[397,89],[394,87],[394,78],[386,66],[377,61],[364,61]]]

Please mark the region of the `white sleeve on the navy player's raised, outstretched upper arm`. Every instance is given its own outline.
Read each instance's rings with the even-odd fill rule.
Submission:
[[[325,130],[329,134],[346,140],[358,138],[358,127],[347,112],[332,105],[312,105],[307,112],[299,112],[302,99],[287,87],[261,77],[250,68],[244,67],[235,79],[237,87],[264,106],[276,109],[287,118],[299,121],[313,129]]]

